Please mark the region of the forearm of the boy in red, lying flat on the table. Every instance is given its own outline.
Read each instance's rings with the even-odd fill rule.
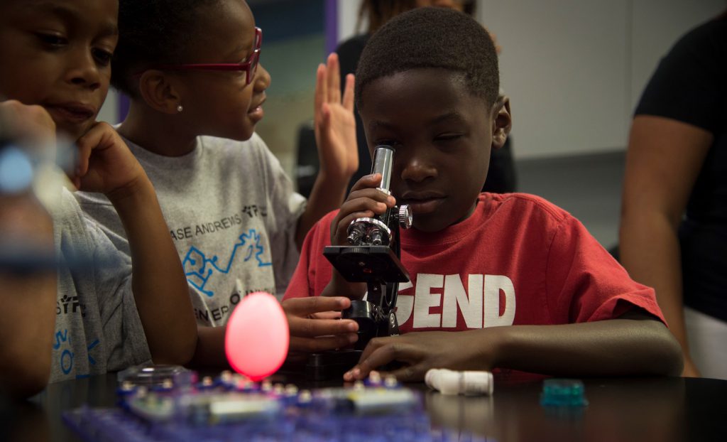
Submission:
[[[556,376],[677,376],[682,370],[678,343],[651,319],[513,325],[483,332],[480,346],[494,346],[493,364],[502,368]]]

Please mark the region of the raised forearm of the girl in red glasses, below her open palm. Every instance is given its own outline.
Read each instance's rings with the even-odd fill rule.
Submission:
[[[313,183],[313,189],[308,197],[308,205],[305,212],[298,220],[295,232],[295,242],[300,250],[303,246],[305,235],[316,224],[316,221],[323,218],[326,213],[341,207],[346,196],[346,187],[350,176],[331,176],[327,173],[320,173]]]

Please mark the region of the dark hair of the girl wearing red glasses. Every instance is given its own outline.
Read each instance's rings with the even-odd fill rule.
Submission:
[[[189,63],[185,51],[198,37],[198,10],[220,0],[121,0],[119,44],[111,62],[111,85],[137,97],[134,74],[148,66]]]

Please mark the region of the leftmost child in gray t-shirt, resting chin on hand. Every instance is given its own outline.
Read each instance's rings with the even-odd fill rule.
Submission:
[[[186,280],[153,186],[113,127],[95,120],[117,9],[116,0],[0,3],[0,97],[10,99],[0,101],[0,135],[31,146],[39,135],[55,143],[56,131],[76,140],[71,181],[108,197],[130,244],[129,256],[119,253],[66,189],[52,195],[52,228],[30,190],[0,195],[0,224],[14,232],[4,240],[36,243],[50,256],[53,248],[60,260],[37,277],[0,269],[0,336],[12,336],[0,346],[0,390],[13,396],[150,359],[187,363],[196,347]]]

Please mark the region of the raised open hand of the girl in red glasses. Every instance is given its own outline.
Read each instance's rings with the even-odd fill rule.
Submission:
[[[353,74],[346,76],[341,98],[338,55],[328,56],[316,72],[314,123],[321,176],[348,184],[358,170],[356,119],[353,117]]]

